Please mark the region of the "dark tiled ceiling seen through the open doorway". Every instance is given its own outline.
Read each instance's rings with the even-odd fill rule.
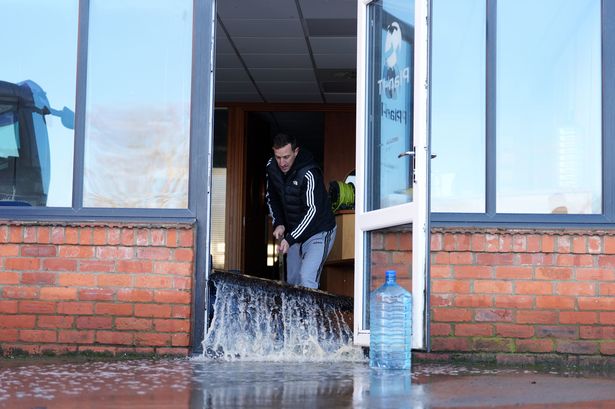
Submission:
[[[354,103],[356,0],[218,0],[216,102]]]

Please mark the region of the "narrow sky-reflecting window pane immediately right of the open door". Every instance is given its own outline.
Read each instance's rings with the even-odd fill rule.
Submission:
[[[485,0],[434,0],[431,211],[485,212]]]

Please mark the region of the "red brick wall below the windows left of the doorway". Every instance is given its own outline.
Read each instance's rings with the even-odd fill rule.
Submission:
[[[0,224],[0,348],[188,353],[194,229]]]

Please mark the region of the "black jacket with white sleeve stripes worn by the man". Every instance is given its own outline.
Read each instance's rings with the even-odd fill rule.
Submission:
[[[284,238],[289,245],[303,243],[314,234],[335,227],[322,172],[312,155],[303,149],[286,174],[275,157],[269,159],[266,199],[273,228],[285,227]]]

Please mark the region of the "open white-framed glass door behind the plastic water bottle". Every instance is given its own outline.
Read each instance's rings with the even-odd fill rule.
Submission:
[[[358,5],[355,342],[369,345],[369,294],[397,270],[425,346],[429,0]]]

